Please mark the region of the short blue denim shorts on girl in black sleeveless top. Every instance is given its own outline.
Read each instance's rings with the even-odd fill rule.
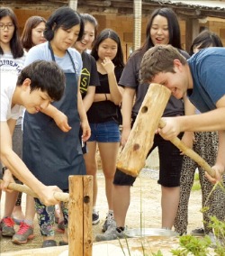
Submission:
[[[104,123],[89,123],[91,127],[91,137],[88,142],[120,142],[121,133],[119,124],[115,121]]]

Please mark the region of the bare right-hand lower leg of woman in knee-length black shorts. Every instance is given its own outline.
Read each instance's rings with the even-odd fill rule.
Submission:
[[[177,212],[180,187],[161,186],[162,227],[172,229]]]

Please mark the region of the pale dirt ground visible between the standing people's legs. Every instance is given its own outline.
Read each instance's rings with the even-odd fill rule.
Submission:
[[[131,202],[129,212],[126,218],[128,228],[138,228],[140,226],[140,212],[142,212],[142,226],[146,228],[160,227],[161,224],[161,207],[160,207],[160,186],[157,184],[157,169],[143,169],[137,178],[134,187],[131,188]],[[98,199],[97,207],[100,214],[100,224],[93,226],[93,239],[96,233],[101,233],[102,225],[105,219],[107,204],[104,194],[104,178],[103,173],[98,173]],[[141,198],[141,199],[140,199]],[[202,225],[201,209],[201,191],[192,192],[189,204],[189,225],[188,232],[195,227]],[[4,195],[1,201],[1,216],[4,209]],[[24,209],[24,195],[23,195]],[[18,228],[18,226],[16,226]],[[40,248],[42,238],[39,232],[37,219],[34,224],[35,237],[23,245],[15,245],[10,238],[1,238],[1,252],[19,251],[26,249]],[[61,240],[61,233],[56,232],[57,242]]]

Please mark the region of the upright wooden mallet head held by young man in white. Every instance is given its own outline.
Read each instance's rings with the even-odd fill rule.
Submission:
[[[93,176],[70,176],[68,182],[68,256],[91,256]]]

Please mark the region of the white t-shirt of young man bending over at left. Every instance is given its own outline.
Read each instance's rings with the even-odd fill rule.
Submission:
[[[17,75],[1,74],[0,88],[1,88],[1,119],[0,121],[7,121],[9,119],[17,120],[22,114],[24,107],[22,105],[14,105],[12,107],[12,98],[16,87]]]

